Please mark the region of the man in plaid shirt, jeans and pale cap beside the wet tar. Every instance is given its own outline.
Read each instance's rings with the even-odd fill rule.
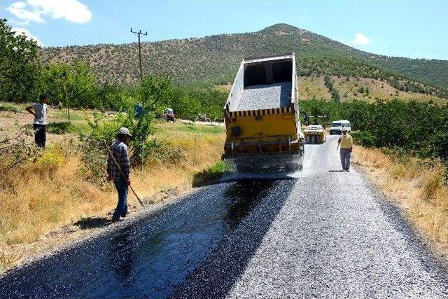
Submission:
[[[110,146],[107,160],[108,180],[113,181],[118,192],[118,204],[113,212],[112,221],[120,220],[127,214],[127,194],[130,181],[131,163],[126,142],[132,137],[127,127],[118,131],[116,141]]]

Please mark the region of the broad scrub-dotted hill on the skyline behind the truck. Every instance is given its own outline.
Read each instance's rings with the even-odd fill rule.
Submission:
[[[232,82],[243,57],[295,52],[300,76],[384,80],[398,90],[448,97],[448,61],[374,55],[286,24],[259,32],[142,44],[144,74],[170,74],[178,83]],[[43,62],[80,59],[100,81],[137,83],[137,43],[43,48]]]

